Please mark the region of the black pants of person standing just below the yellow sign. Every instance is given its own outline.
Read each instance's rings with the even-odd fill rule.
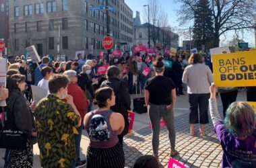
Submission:
[[[222,99],[222,106],[223,106],[223,116],[226,116],[226,110],[231,103],[236,101],[238,91],[230,91],[228,93],[220,93],[220,97]]]

